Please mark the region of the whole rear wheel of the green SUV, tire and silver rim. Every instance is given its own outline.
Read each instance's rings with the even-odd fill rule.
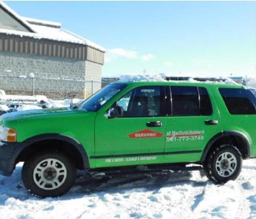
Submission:
[[[206,176],[218,184],[235,180],[242,167],[242,155],[234,145],[221,145],[210,152],[204,164]]]

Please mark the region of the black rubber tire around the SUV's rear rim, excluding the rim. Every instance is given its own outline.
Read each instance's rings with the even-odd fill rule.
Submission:
[[[218,173],[219,169],[216,165],[217,165],[217,159],[219,158],[219,156],[225,152],[229,152],[234,155],[234,157],[236,158],[236,167],[233,166],[232,171],[234,172],[230,174],[230,176],[226,174],[227,176],[223,177]],[[208,154],[206,158],[206,162],[204,164],[204,173],[206,174],[209,180],[212,180],[217,184],[224,184],[229,180],[235,180],[240,174],[241,168],[242,168],[242,155],[240,151],[237,149],[237,147],[234,145],[221,145],[219,147],[216,147],[214,150],[212,150]],[[224,172],[229,173],[227,171],[224,171]]]

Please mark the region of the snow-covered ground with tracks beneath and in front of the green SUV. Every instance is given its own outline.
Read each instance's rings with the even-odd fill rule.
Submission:
[[[200,172],[168,177],[88,179],[66,195],[38,199],[22,186],[22,163],[0,175],[0,218],[256,218],[256,160],[245,160],[236,181],[215,185]],[[83,175],[82,175],[83,174]]]

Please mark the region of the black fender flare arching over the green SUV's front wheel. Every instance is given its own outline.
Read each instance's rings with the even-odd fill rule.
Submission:
[[[69,137],[67,135],[62,135],[62,134],[41,134],[41,135],[36,135],[34,137],[28,138],[23,142],[17,142],[17,147],[16,150],[14,152],[14,154],[12,155],[13,158],[18,157],[18,155],[29,145],[31,145],[32,143],[36,143],[39,141],[44,141],[44,140],[61,140],[64,142],[68,142],[71,145],[73,145],[80,153],[81,157],[82,157],[82,161],[83,161],[83,169],[89,169],[90,168],[90,164],[89,164],[89,158],[87,155],[86,150],[84,149],[83,145],[78,142],[76,139]]]

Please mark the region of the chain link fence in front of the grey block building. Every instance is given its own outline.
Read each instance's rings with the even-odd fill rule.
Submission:
[[[36,76],[0,76],[0,89],[8,95],[45,95],[49,99],[86,99],[118,78],[102,78],[101,81]]]

